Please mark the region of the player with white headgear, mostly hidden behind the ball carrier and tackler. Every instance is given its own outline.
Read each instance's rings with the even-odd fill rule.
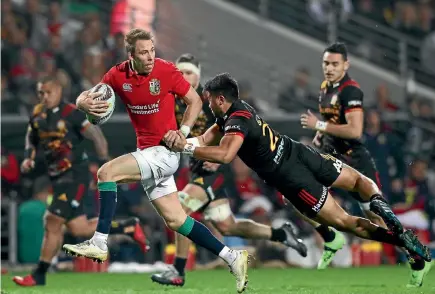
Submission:
[[[200,84],[201,66],[199,61],[191,54],[183,54],[176,61],[177,68],[183,73],[185,79],[202,95]],[[186,105],[181,99],[176,99],[175,115],[180,124]],[[190,132],[192,137],[200,136],[215,122],[208,103],[203,104],[195,125]],[[207,162],[190,158],[192,176],[189,184],[179,192],[180,202],[187,214],[203,211],[205,220],[224,236],[239,236],[248,239],[264,239],[282,242],[306,256],[306,247],[298,240],[290,224],[284,224],[278,229],[262,225],[248,219],[236,219],[231,211],[230,202],[225,191],[228,165]],[[185,283],[184,269],[186,266],[191,241],[177,234],[176,258],[174,264],[162,273],[154,274],[151,279],[163,285],[183,286]]]

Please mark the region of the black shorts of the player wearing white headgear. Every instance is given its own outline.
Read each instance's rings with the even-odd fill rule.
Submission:
[[[222,166],[214,173],[192,174],[189,183],[203,188],[207,194],[208,202],[201,208],[201,210],[205,209],[208,204],[215,200],[228,198],[225,189],[225,181],[225,169]]]

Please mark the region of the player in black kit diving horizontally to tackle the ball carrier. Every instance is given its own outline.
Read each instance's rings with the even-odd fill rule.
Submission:
[[[429,249],[412,231],[404,231],[397,218],[391,218],[395,229],[388,230],[367,219],[348,215],[330,197],[328,187],[358,191],[361,197],[371,199],[372,210],[393,213],[372,180],[339,159],[320,154],[273,130],[249,104],[239,99],[237,82],[229,74],[208,81],[204,96],[217,118],[216,124],[203,135],[188,140],[181,132],[171,131],[165,141],[172,150],[218,163],[229,163],[238,155],[300,212],[317,222],[364,239],[405,247],[431,260]]]

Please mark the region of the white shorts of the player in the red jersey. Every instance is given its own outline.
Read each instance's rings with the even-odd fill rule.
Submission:
[[[140,169],[141,183],[150,201],[177,192],[173,174],[180,164],[180,153],[163,146],[136,150],[131,155]]]

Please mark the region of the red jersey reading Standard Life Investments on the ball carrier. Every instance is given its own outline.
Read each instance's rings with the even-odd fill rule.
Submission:
[[[175,65],[160,58],[148,75],[136,74],[129,61],[119,63],[101,83],[110,85],[124,102],[139,149],[159,145],[167,131],[177,129],[175,95],[184,97],[190,89]]]

